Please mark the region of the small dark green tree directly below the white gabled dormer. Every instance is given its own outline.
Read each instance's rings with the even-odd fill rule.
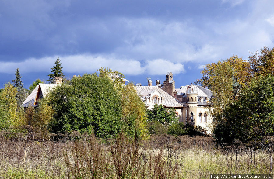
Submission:
[[[148,121],[158,121],[164,125],[170,125],[178,120],[173,108],[166,109],[163,105],[157,104],[154,105],[152,110],[147,110],[147,117]]]

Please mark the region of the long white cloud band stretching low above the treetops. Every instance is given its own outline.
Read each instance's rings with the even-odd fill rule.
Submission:
[[[137,60],[91,54],[31,58],[17,63],[0,62],[0,71],[2,73],[14,73],[16,68],[19,68],[20,73],[48,72],[58,57],[61,60],[63,72],[70,73],[93,73],[100,67],[109,67],[128,75],[165,74],[167,71],[172,71],[174,74],[184,72],[184,65],[163,59],[148,60],[146,65],[141,67],[140,61]]]

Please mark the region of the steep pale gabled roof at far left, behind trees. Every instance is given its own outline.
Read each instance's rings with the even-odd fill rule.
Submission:
[[[30,95],[26,98],[26,100],[23,102],[21,107],[36,107],[37,105],[34,104],[35,99],[39,98],[39,96],[46,97],[48,91],[50,91],[54,86],[58,84],[44,84],[39,83],[34,90],[30,93]],[[41,90],[41,95],[39,94],[39,89]],[[39,96],[38,96],[39,95]]]

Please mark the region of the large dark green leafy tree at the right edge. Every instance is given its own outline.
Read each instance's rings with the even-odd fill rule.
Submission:
[[[219,142],[233,139],[251,140],[251,131],[260,128],[264,135],[274,133],[274,76],[253,77],[237,100],[230,102],[214,124],[214,136]]]

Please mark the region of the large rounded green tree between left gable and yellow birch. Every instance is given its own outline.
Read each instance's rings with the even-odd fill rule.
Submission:
[[[76,130],[98,137],[115,136],[121,129],[121,100],[107,77],[84,74],[56,86],[47,95],[54,110],[53,133]]]

